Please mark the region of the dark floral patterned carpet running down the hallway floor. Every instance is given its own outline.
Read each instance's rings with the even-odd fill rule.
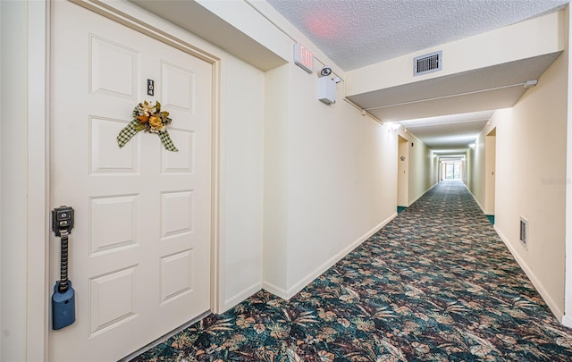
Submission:
[[[290,301],[261,290],[132,360],[572,361],[572,330],[444,181]]]

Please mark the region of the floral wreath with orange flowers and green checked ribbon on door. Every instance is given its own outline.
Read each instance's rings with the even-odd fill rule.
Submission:
[[[139,103],[133,109],[133,120],[117,135],[117,144],[122,148],[139,130],[145,130],[156,133],[165,149],[177,152],[179,150],[172,143],[166,128],[171,121],[169,112],[161,112],[159,101],[156,101],[155,105],[147,101]]]

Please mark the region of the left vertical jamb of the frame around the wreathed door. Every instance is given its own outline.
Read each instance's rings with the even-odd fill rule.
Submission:
[[[26,205],[26,359],[47,360],[48,335],[48,150],[47,67],[49,19],[46,1],[28,1],[28,199]]]

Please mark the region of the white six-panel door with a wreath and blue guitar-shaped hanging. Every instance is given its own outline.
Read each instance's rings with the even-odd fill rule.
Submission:
[[[75,210],[76,321],[50,330],[49,360],[115,361],[210,308],[212,66],[77,4],[51,4],[50,208]],[[179,152],[143,131],[118,147],[144,100],[170,113]],[[60,240],[50,235],[53,287]]]

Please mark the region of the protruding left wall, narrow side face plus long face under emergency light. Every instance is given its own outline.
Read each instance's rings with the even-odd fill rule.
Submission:
[[[285,299],[396,213],[397,134],[343,84],[319,102],[317,80],[293,63],[266,73],[264,288]]]

